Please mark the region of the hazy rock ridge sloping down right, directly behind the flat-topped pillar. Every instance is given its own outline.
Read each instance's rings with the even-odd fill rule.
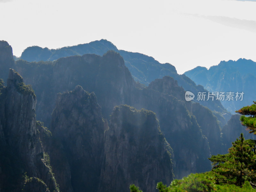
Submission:
[[[207,159],[210,157],[208,140],[184,101],[145,88],[134,93],[133,106],[156,112],[161,130],[174,152],[173,170],[176,178],[211,169]]]

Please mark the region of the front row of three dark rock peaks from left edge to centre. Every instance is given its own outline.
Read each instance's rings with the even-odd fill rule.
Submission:
[[[77,85],[73,91],[58,95],[50,132],[41,122],[36,122],[36,96],[30,86],[21,84],[22,80],[17,72],[10,69],[8,86],[4,87],[1,83],[1,191],[23,189],[49,192],[59,191],[59,188],[61,191],[84,191],[85,188],[90,191],[102,188],[104,191],[113,191],[114,188],[117,191],[128,188],[132,182],[142,189],[155,191],[153,186],[160,180],[171,182],[172,149],[160,131],[156,114],[147,110],[137,111],[129,106],[116,107],[108,127],[102,118],[95,94],[85,92]],[[27,88],[26,91],[17,85]],[[19,97],[21,100],[17,100]],[[11,102],[8,99],[16,99],[14,107],[9,105]],[[8,113],[10,109],[15,112]],[[122,113],[119,109],[122,109]],[[131,113],[130,116],[127,113]],[[123,123],[120,124],[121,119]],[[130,125],[132,122],[133,128]],[[113,131],[116,133],[113,134]],[[145,131],[148,131],[148,136],[145,136]],[[123,133],[124,138],[128,137],[124,143],[128,141],[127,145],[132,147],[125,147],[124,158],[116,159],[115,154],[122,152],[119,147],[124,145],[110,138],[119,137],[118,141],[122,142]],[[109,148],[113,145],[117,148]],[[17,160],[9,155],[10,152],[16,154]],[[109,161],[110,156],[115,162]],[[12,164],[8,165],[6,158],[11,158]],[[144,158],[148,159],[148,163],[143,168],[141,164]],[[107,178],[113,178],[115,171],[108,169],[115,167],[116,163],[117,171],[123,170],[123,177],[115,175],[118,176],[117,181],[111,184]],[[133,174],[132,169],[138,168],[143,171],[137,170],[137,174]],[[12,175],[14,169],[18,169],[15,177]],[[144,178],[145,174],[150,177]]]

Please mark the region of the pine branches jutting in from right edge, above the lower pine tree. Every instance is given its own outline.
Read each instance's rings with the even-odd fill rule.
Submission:
[[[242,125],[246,126],[248,128],[249,133],[256,134],[256,102],[253,101],[254,104],[251,106],[245,106],[236,113],[241,114],[240,121],[242,122]]]

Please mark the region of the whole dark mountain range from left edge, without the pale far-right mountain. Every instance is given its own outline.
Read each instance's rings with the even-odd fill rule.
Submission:
[[[243,130],[220,101],[186,101],[207,91],[171,64],[106,40],[14,58],[1,41],[2,191],[156,191],[209,171]]]

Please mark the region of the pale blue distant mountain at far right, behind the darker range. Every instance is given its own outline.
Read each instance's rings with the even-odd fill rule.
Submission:
[[[243,106],[251,105],[255,100],[256,62],[252,60],[221,61],[209,70],[205,67],[196,67],[184,74],[210,92],[234,92],[234,101],[221,101],[233,114]],[[235,100],[236,92],[244,92],[242,101]]]

